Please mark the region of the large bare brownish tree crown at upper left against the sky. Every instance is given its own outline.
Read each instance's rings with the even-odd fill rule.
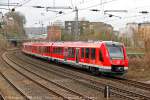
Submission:
[[[5,31],[8,37],[24,37],[25,16],[20,12],[8,12],[5,14]]]

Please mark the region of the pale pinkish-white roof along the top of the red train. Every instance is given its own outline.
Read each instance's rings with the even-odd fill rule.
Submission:
[[[114,42],[114,41],[78,41],[78,42],[27,42],[23,45],[32,45],[32,46],[58,46],[58,47],[91,47],[97,48],[102,44],[106,45],[122,45],[122,43]]]

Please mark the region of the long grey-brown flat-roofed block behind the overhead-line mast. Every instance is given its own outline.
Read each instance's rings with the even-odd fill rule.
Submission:
[[[75,34],[77,31],[75,28],[76,21],[65,21],[65,31],[68,34]],[[78,21],[79,33],[112,33],[113,27],[103,22],[89,22],[89,21]]]

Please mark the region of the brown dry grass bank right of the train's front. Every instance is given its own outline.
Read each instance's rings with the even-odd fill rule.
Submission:
[[[135,80],[150,80],[150,53],[144,57],[129,58],[127,77]]]

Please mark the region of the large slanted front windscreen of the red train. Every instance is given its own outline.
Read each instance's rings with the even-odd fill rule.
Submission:
[[[124,59],[122,46],[108,45],[107,48],[111,59]]]

